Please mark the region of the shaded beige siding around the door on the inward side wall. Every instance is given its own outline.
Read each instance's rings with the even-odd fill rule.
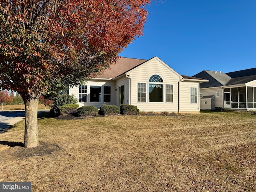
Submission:
[[[130,94],[129,94],[129,78],[127,77],[122,77],[116,80],[116,100],[115,100],[115,105],[119,105],[119,87],[124,85],[124,104],[129,104],[130,102]]]

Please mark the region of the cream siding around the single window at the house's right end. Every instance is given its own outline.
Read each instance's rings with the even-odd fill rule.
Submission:
[[[190,88],[196,88],[196,103],[190,102]],[[180,112],[199,112],[199,83],[180,82]]]

